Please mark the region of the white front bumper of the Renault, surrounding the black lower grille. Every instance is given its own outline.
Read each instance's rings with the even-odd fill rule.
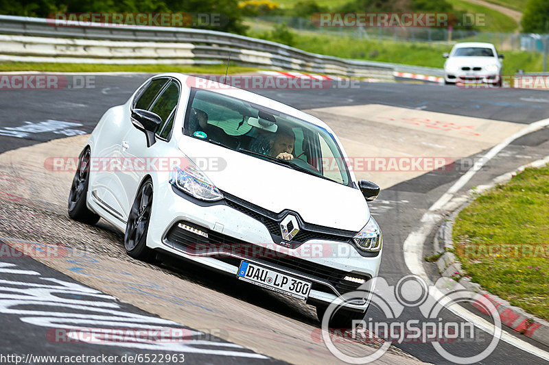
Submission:
[[[379,272],[382,253],[371,257],[360,255],[353,244],[343,242],[344,238],[334,240],[338,238],[337,230],[329,234],[309,232],[308,236],[301,236],[306,239],[304,243],[290,241],[285,247],[282,244],[287,242],[277,242],[277,236],[273,235],[272,221],[248,207],[239,207],[229,199],[205,203],[170,184],[163,185],[156,188],[153,199],[147,241],[152,249],[235,275],[235,279],[241,260],[246,260],[312,281],[307,299],[311,304],[329,303],[360,286],[344,279],[346,276],[364,279],[369,284]],[[181,229],[180,223],[200,234]],[[353,301],[347,307],[364,311],[370,297]]]

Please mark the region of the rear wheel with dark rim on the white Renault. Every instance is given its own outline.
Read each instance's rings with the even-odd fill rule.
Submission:
[[[78,159],[78,169],[74,174],[73,184],[71,185],[67,210],[69,216],[75,221],[95,225],[100,220],[100,216],[89,210],[86,205],[90,179],[90,160],[91,151],[89,148],[86,148]]]

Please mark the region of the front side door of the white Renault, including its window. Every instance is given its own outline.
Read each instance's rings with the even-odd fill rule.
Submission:
[[[135,199],[135,194],[143,177],[147,174],[157,173],[165,167],[165,162],[170,156],[166,153],[166,144],[170,140],[175,118],[176,106],[180,95],[180,85],[175,79],[168,79],[154,100],[145,108],[146,102],[137,101],[135,108],[148,110],[161,118],[161,125],[156,131],[156,143],[150,147],[143,131],[137,128],[128,129],[128,133],[121,142],[121,155],[128,168],[117,171],[118,180],[124,189],[121,201],[124,217],[127,218],[130,207]]]

